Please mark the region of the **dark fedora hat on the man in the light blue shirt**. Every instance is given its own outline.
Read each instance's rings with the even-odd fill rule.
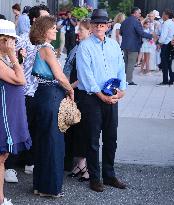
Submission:
[[[105,9],[94,9],[91,16],[91,23],[108,23],[109,17]]]

